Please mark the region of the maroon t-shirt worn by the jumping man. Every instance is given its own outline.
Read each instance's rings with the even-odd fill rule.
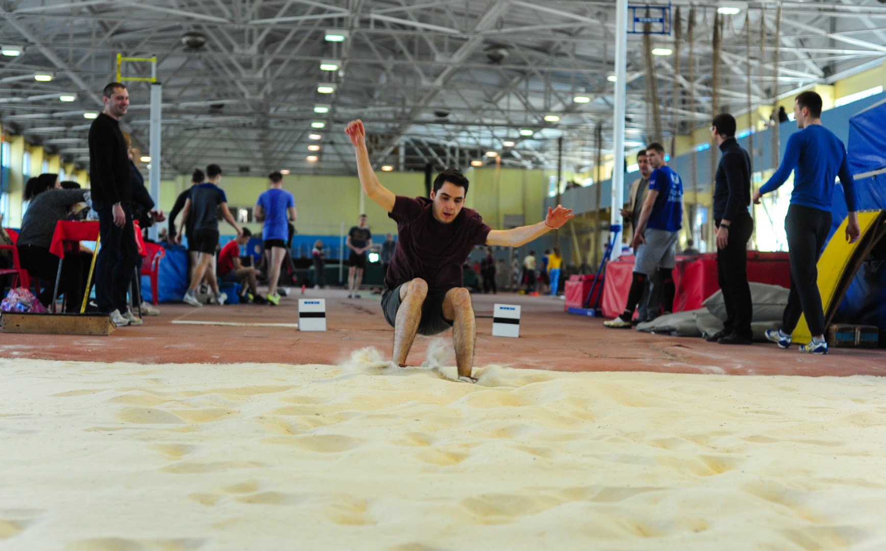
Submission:
[[[477,211],[462,208],[454,221],[444,224],[434,218],[430,198],[398,195],[388,214],[397,222],[397,248],[385,276],[385,287],[393,289],[416,277],[428,283],[429,291],[461,287],[462,264],[475,245],[486,244],[492,230]]]

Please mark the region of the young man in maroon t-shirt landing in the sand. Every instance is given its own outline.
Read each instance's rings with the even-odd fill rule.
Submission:
[[[544,221],[515,229],[491,229],[482,217],[464,208],[468,179],[455,169],[440,173],[430,198],[395,196],[378,182],[366,150],[360,120],[345,129],[357,158],[361,188],[397,222],[399,244],[385,275],[382,310],[394,328],[393,361],[405,365],[416,333],[436,335],[453,328],[458,378],[472,377],[477,326],[470,291],[462,287],[462,264],[475,245],[520,246],[560,228],[572,210],[548,207]]]

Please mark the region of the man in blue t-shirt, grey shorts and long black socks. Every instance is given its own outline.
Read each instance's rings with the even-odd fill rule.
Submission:
[[[677,255],[677,239],[683,221],[683,182],[664,160],[664,146],[652,143],[646,147],[649,166],[649,192],[643,201],[631,246],[637,256],[633,264],[633,281],[627,293],[625,311],[608,322],[606,327],[629,328],[633,310],[643,296],[649,277],[656,275],[661,284],[664,314],[673,309],[674,284],[672,270]]]

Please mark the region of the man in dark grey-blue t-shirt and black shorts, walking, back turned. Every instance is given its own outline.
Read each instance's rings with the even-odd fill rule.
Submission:
[[[218,211],[221,209],[224,219],[237,230],[237,236],[243,233],[228,210],[228,198],[225,197],[219,183],[221,183],[221,167],[218,165],[206,167],[206,182],[190,187],[188,198],[184,201],[182,220],[178,222],[178,230],[175,233],[175,243],[181,244],[182,229],[190,218],[193,219],[192,225],[189,224],[188,227],[194,231],[193,235],[188,234],[188,241],[194,241],[194,248],[199,255],[197,268],[194,268],[194,272],[190,275],[190,285],[183,297],[183,301],[192,307],[203,306],[203,303],[197,299],[195,291],[203,281],[206,269],[210,268],[215,260],[215,247],[219,244]],[[219,290],[214,273],[207,281],[215,295],[215,303],[221,306],[228,299],[228,295]]]

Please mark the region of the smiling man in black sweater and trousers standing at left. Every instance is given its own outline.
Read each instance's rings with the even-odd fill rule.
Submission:
[[[120,117],[129,107],[126,86],[111,82],[105,86],[102,101],[105,109],[89,127],[89,181],[101,237],[96,259],[96,302],[117,327],[140,325],[141,320],[132,314],[126,300],[138,258],[128,147],[120,132]]]

